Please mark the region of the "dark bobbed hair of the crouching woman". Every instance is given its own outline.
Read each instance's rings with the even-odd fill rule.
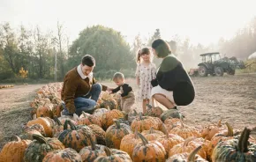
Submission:
[[[171,54],[169,44],[162,39],[154,40],[152,43],[152,48],[154,48],[156,55],[160,58]]]

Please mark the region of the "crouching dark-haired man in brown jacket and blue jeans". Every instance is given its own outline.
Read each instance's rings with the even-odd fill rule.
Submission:
[[[80,115],[82,111],[92,113],[102,91],[111,88],[96,83],[93,76],[95,60],[85,55],[79,66],[68,71],[64,77],[61,98],[64,100],[63,115]]]

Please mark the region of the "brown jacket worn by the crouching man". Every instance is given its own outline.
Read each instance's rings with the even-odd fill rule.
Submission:
[[[88,77],[86,79],[82,79],[79,76],[77,71],[77,67],[68,71],[64,77],[64,85],[61,92],[61,99],[64,100],[65,106],[68,109],[69,113],[75,113],[75,105],[74,99],[78,97],[82,97],[90,92],[92,85],[96,83],[95,78],[93,77],[93,81],[89,82]],[[102,91],[106,91],[107,86],[102,85]]]

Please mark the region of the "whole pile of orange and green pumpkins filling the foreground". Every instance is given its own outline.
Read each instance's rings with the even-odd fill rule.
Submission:
[[[59,96],[52,95],[59,88],[48,85],[38,94],[41,99],[53,96],[52,101]],[[36,111],[23,133],[4,145],[0,162],[256,161],[251,129],[236,130],[222,121],[192,127],[184,123],[178,110],[162,111],[149,105],[146,114],[136,110],[125,114],[118,103],[117,96],[102,93],[93,114],[61,116]]]

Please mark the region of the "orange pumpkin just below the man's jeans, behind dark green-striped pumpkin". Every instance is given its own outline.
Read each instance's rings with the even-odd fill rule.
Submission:
[[[96,124],[102,127],[101,121],[96,116],[82,112],[82,114],[79,116],[79,125],[84,125],[84,124],[85,125]]]

